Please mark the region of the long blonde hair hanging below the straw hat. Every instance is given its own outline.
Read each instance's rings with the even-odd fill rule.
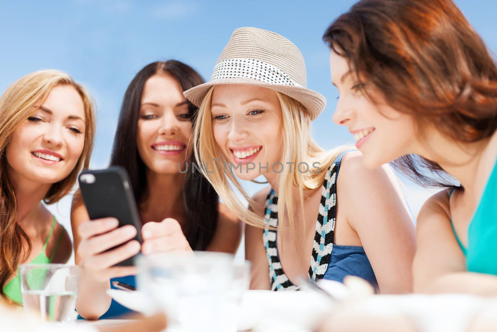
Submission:
[[[243,190],[237,176],[231,172],[231,169],[224,169],[226,159],[217,148],[212,132],[211,97],[213,89],[214,87],[208,91],[200,105],[193,130],[197,164],[200,165],[202,174],[212,184],[219,197],[240,220],[255,227],[272,228],[263,218],[245,207],[244,202],[236,195],[230,185],[230,182],[233,183],[249,204],[254,203]],[[281,222],[284,220],[283,215],[286,209],[289,216],[288,226],[294,230],[293,187],[297,187],[300,195],[300,208],[304,214],[304,190],[319,188],[323,184],[326,172],[333,160],[349,147],[338,146],[331,151],[321,148],[312,138],[311,119],[305,107],[287,95],[277,91],[275,93],[279,99],[283,115],[283,146],[280,160],[287,162],[287,166],[283,165],[283,170],[278,175],[278,220],[280,221],[278,228],[282,226]],[[308,165],[318,163],[317,165],[321,170],[318,172],[309,167],[308,172],[301,173],[298,169],[301,162],[306,162]],[[283,174],[288,174],[288,176],[282,176]]]

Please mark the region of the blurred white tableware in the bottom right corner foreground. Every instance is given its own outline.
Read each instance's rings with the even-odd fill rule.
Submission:
[[[484,332],[492,324],[497,331],[496,309],[496,298],[470,294],[372,295],[342,302],[318,331]]]

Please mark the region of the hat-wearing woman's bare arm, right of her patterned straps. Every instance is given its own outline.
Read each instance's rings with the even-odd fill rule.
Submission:
[[[382,293],[413,289],[414,223],[395,181],[383,167],[366,169],[359,152],[343,157],[337,179],[339,215],[359,236]]]

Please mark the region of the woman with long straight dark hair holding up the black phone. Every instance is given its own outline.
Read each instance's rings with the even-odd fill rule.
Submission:
[[[110,164],[128,171],[144,243],[140,247],[130,241],[106,252],[134,238],[136,229],[115,229],[115,219],[88,221],[81,197],[75,196],[71,219],[73,229],[78,230],[74,234],[76,262],[84,267],[77,303],[82,317],[96,319],[107,312],[111,305],[105,292],[109,280],[135,272],[132,267],[111,266],[139,251],[235,253],[238,249],[241,223],[219,203],[200,172],[192,171],[192,122],[197,109],[184,98],[183,91],[202,83],[202,77],[190,66],[169,60],[145,66],[128,86]],[[120,280],[134,283],[134,277]],[[123,308],[113,303],[104,317],[122,312]]]

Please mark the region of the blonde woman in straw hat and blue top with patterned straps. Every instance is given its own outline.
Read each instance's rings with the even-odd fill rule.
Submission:
[[[359,152],[325,151],[312,139],[326,100],[306,88],[294,44],[237,29],[211,81],[184,95],[200,107],[194,152],[203,174],[247,224],[251,289],[298,289],[306,275],[357,275],[385,293],[412,289],[414,224],[404,200],[387,169],[367,170]],[[270,186],[249,199],[237,178],[260,175]]]

